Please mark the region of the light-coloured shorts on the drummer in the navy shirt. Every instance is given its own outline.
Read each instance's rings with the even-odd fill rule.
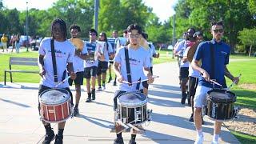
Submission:
[[[206,94],[212,90],[210,87],[198,86],[194,94],[194,107],[202,107],[206,103]]]

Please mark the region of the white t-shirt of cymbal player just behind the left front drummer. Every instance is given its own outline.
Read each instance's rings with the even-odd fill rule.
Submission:
[[[84,42],[82,54],[87,54],[87,53],[88,53],[88,51],[87,51],[87,47],[86,47],[86,42]],[[79,58],[76,54],[74,54],[73,66],[74,66],[74,72],[80,72],[80,71],[85,70],[84,69],[84,60],[82,58]]]

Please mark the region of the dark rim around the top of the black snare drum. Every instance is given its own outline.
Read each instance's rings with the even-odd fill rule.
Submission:
[[[233,95],[234,97],[233,98],[229,98],[229,99],[214,98],[214,97],[210,96],[211,92],[229,93],[229,94]],[[237,97],[231,91],[214,89],[214,90],[210,90],[210,91],[207,92],[207,99],[212,101],[212,102],[220,102],[220,103],[227,103],[228,102],[228,103],[232,103],[232,102],[236,102]]]

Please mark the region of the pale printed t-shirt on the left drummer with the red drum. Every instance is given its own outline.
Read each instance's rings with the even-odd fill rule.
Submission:
[[[63,72],[66,70],[68,62],[73,62],[74,60],[74,46],[70,41],[66,40],[65,42],[58,42],[54,40],[54,50],[56,57],[57,65],[57,74],[58,82],[62,81]],[[50,38],[44,38],[40,43],[38,53],[44,55],[44,68],[46,70],[46,75],[44,78],[41,78],[40,84],[43,86],[54,87],[54,68],[51,57],[51,48],[50,48]],[[67,74],[66,74],[67,77]],[[69,87],[68,82],[58,86],[59,88]]]

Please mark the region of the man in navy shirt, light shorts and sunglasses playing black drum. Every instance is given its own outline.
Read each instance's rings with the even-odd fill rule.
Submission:
[[[229,63],[230,46],[222,42],[224,34],[224,27],[222,22],[211,22],[211,34],[213,39],[207,42],[201,42],[198,45],[198,50],[194,54],[192,61],[192,68],[198,70],[201,77],[199,77],[198,87],[194,95],[194,123],[197,130],[197,137],[194,143],[201,144],[203,142],[202,133],[202,105],[206,101],[206,93],[209,90],[216,88],[226,88],[226,80],[224,76],[230,78],[236,84],[239,82],[238,77],[230,74],[226,65]],[[214,57],[214,58],[213,58]],[[202,60],[202,66],[198,65],[199,60]],[[213,86],[210,80],[218,82],[222,85]],[[219,134],[221,132],[222,122],[215,122],[214,137],[212,143],[218,143]]]

